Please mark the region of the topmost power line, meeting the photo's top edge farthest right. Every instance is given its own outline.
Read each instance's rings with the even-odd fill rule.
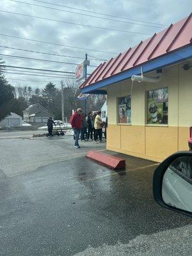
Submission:
[[[32,1],[39,2],[39,3],[44,3],[44,4],[51,4],[51,5],[54,5],[54,6],[60,6],[60,7],[69,8],[69,9],[73,9],[73,10],[79,10],[79,11],[88,12],[88,13],[100,14],[100,15],[104,15],[104,16],[108,16],[108,17],[115,17],[115,18],[118,18],[118,19],[133,20],[133,21],[138,21],[138,22],[145,22],[147,24],[154,24],[154,25],[159,25],[159,26],[167,26],[165,24],[159,24],[159,23],[148,22],[148,21],[143,21],[143,20],[136,20],[136,19],[129,19],[129,18],[126,18],[126,17],[109,15],[109,14],[100,13],[100,12],[93,12],[93,11],[83,10],[83,9],[79,9],[79,8],[75,8],[75,7],[70,7],[70,6],[65,6],[65,5],[61,5],[61,4],[49,3],[49,2],[46,2],[46,1],[38,1],[38,0],[32,0]]]

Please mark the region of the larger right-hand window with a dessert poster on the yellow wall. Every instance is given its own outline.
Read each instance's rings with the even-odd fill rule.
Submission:
[[[168,88],[147,92],[147,124],[168,124]]]

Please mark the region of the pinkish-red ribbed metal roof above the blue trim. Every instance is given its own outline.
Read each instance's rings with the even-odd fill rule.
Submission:
[[[192,13],[144,42],[100,64],[81,88],[192,44]]]

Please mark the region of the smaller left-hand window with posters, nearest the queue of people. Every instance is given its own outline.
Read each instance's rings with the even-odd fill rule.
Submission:
[[[131,96],[118,98],[118,123],[131,124]]]

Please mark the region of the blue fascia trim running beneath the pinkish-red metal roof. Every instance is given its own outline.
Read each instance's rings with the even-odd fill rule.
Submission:
[[[103,93],[100,93],[100,90],[99,90],[100,88],[127,80],[131,78],[132,75],[140,75],[141,67],[143,67],[143,73],[147,73],[153,70],[157,70],[158,68],[163,68],[163,67],[173,65],[175,63],[179,63],[180,61],[188,60],[189,58],[192,58],[192,45],[184,47],[170,54],[166,54],[165,56],[159,57],[156,60],[148,61],[143,65],[140,65],[135,68],[131,68],[131,70],[120,72],[119,74],[111,76],[107,79],[103,79],[97,83],[86,86],[81,89],[81,92],[103,94]]]

